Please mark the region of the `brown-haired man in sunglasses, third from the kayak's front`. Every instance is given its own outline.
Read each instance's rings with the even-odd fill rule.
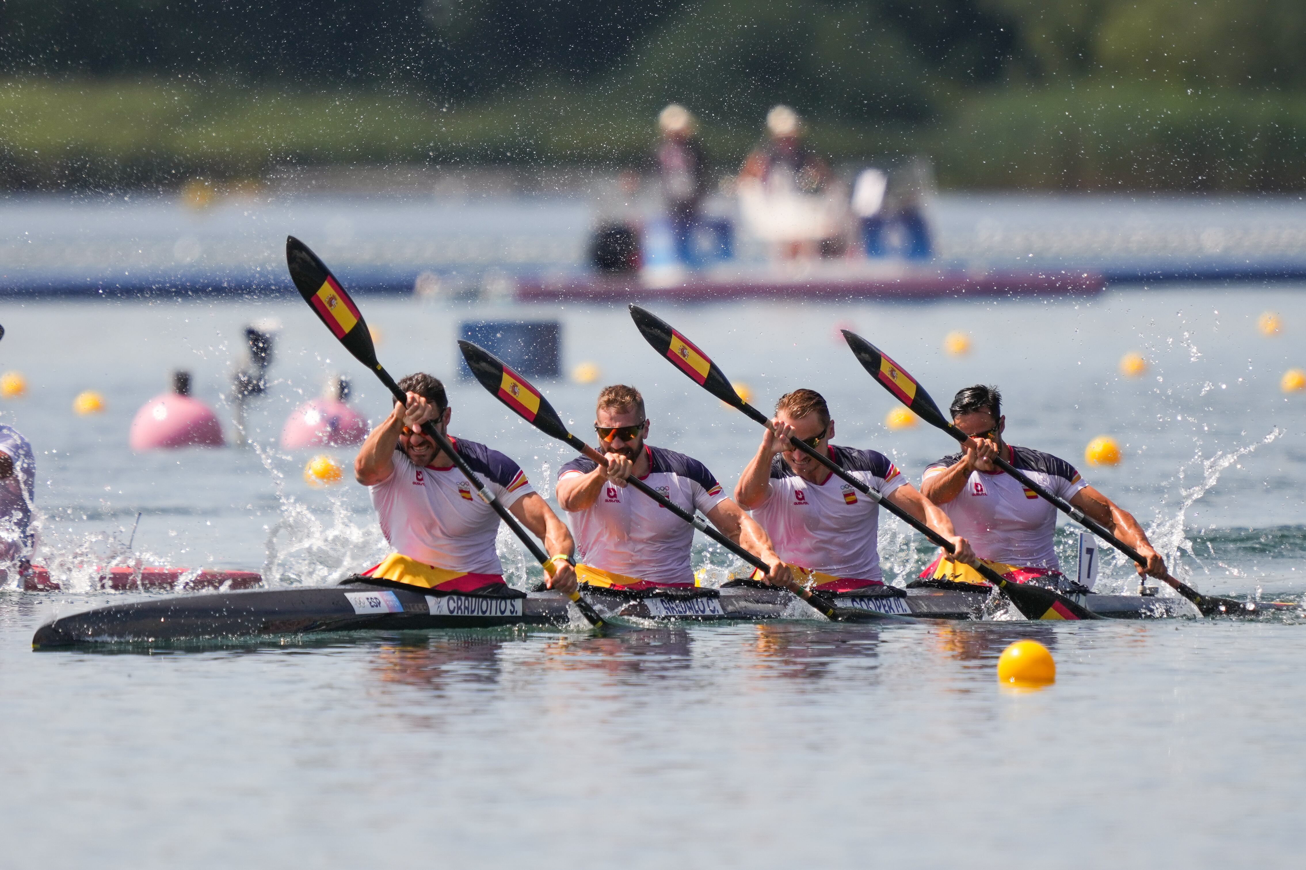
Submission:
[[[974,558],[970,544],[956,535],[947,514],[926,501],[888,457],[833,445],[833,437],[835,420],[820,393],[786,393],[735,485],[739,506],[767,530],[799,580],[824,592],[884,584],[879,505],[794,447],[794,441],[824,451],[870,489],[943,535],[963,562]]]

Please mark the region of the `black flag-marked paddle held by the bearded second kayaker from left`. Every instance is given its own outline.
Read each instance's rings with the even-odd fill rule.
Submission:
[[[522,376],[508,368],[503,360],[491,353],[490,351],[473,344],[471,342],[458,342],[458,347],[462,348],[462,357],[468,361],[468,367],[471,373],[475,374],[477,380],[481,381],[490,395],[495,397],[504,404],[507,404],[517,416],[522,417],[526,423],[532,424],[546,436],[551,438],[558,438],[565,442],[568,446],[575,449],[577,453],[588,458],[599,466],[607,467],[607,458],[590,447],[588,443],[573,436],[567,430],[563,424],[562,417],[554,411],[554,406],[549,403],[543,395],[539,394],[530,382]],[[699,517],[696,513],[687,511],[674,501],[666,498],[662,493],[649,487],[646,483],[639,477],[627,477],[626,483],[644,493],[658,505],[671,511],[684,522],[690,523],[700,532],[721,544],[724,548],[742,558],[748,565],[752,565],[757,570],[767,573],[771,566],[763,562],[760,558],[746,550],[744,548],[735,544],[733,540],[722,535],[708,523],[707,519]],[[814,608],[824,613],[831,620],[897,620],[901,617],[889,616],[887,613],[880,613],[879,610],[863,610],[861,608],[841,608],[836,607],[825,596],[806,590],[798,586],[794,590],[804,601],[811,604]]]

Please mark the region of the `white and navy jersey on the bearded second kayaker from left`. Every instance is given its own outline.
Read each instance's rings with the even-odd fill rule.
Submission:
[[[644,449],[649,473],[640,480],[675,505],[707,514],[726,500],[721,484],[697,459],[662,447]],[[580,457],[563,466],[558,480],[594,468],[593,460]],[[693,526],[635,488],[605,484],[590,507],[567,513],[586,565],[649,583],[693,583]]]

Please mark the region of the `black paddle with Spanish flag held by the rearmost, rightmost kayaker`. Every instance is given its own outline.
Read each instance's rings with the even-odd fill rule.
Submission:
[[[852,348],[853,356],[855,356],[857,361],[862,364],[862,368],[870,372],[871,377],[879,381],[880,386],[892,393],[893,397],[899,402],[905,404],[908,408],[910,408],[912,412],[916,413],[916,416],[921,417],[932,427],[943,429],[949,436],[956,438],[957,443],[966,442],[969,436],[966,436],[965,432],[959,429],[952,423],[952,420],[943,416],[943,412],[939,410],[939,406],[934,403],[934,399],[931,399],[930,394],[925,391],[925,387],[917,383],[916,378],[908,374],[901,365],[891,360],[878,347],[867,342],[857,333],[850,333],[846,329],[842,330],[842,333],[844,338],[848,339],[848,347]],[[1118,539],[1111,532],[1106,531],[1105,526],[1102,526],[1096,519],[1081,511],[1079,507],[1071,505],[1064,498],[1054,496],[1053,493],[1047,492],[1046,489],[1036,484],[1024,472],[1021,472],[1019,468],[1012,466],[1002,457],[994,457],[994,464],[1006,471],[1013,479],[1019,480],[1023,487],[1029,487],[1038,496],[1050,501],[1053,505],[1057,506],[1058,510],[1068,515],[1071,519],[1074,519],[1076,523],[1079,523],[1088,531],[1093,532],[1094,535],[1105,540],[1115,549],[1128,556],[1139,565],[1147,565],[1147,560],[1143,558],[1143,556],[1136,549],[1134,549],[1132,547]],[[1198,610],[1202,612],[1202,616],[1213,616],[1216,613],[1232,613],[1232,612],[1249,613],[1256,609],[1255,605],[1246,605],[1242,601],[1235,601],[1234,599],[1224,599],[1213,595],[1202,595],[1187,583],[1177,580],[1169,574],[1166,574],[1161,579],[1169,583],[1171,587],[1174,587],[1174,590],[1179,595],[1192,601],[1192,604],[1198,608]]]

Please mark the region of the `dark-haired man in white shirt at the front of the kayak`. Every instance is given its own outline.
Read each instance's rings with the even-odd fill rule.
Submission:
[[[407,404],[372,429],[354,460],[354,476],[368,488],[381,532],[394,552],[367,577],[441,592],[477,592],[505,586],[495,549],[499,515],[477,496],[471,481],[422,432],[435,421],[458,455],[522,526],[552,554],[551,590],[576,591],[575,541],[558,515],[532,489],[521,467],[483,443],[448,434],[452,408],[444,385],[430,374],[398,382]],[[492,588],[488,590],[492,593]]]

